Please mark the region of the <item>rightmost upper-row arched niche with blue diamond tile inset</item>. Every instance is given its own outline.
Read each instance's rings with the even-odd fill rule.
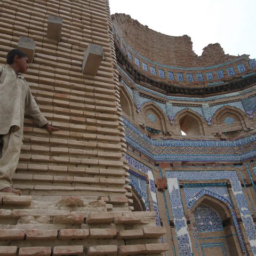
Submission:
[[[232,139],[245,134],[246,114],[238,108],[225,106],[219,109],[213,116],[213,125],[218,126],[222,137]]]

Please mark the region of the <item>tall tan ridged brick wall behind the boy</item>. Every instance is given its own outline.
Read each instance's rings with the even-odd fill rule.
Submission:
[[[125,198],[125,144],[108,2],[0,1],[0,15],[1,65],[20,36],[34,39],[35,58],[25,77],[44,116],[61,129],[49,135],[26,117],[13,186],[30,194]],[[61,42],[46,37],[49,15],[63,19]],[[94,77],[82,73],[89,43],[102,45],[105,56]]]

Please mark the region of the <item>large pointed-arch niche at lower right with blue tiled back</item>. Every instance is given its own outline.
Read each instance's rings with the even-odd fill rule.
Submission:
[[[228,202],[205,194],[190,208],[189,213],[197,237],[199,255],[243,255],[237,235],[234,235],[236,228]],[[205,241],[210,241],[212,237],[220,247],[214,249],[204,246]],[[222,251],[226,254],[222,254]]]

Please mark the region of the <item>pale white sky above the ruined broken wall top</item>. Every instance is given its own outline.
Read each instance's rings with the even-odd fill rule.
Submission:
[[[256,58],[256,0],[109,0],[111,14],[131,15],[166,35],[188,35],[201,55],[210,43]]]

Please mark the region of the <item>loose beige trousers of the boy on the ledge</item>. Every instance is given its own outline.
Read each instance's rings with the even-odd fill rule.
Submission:
[[[14,134],[0,135],[0,190],[12,186],[12,175],[15,172],[21,150],[22,140]]]

